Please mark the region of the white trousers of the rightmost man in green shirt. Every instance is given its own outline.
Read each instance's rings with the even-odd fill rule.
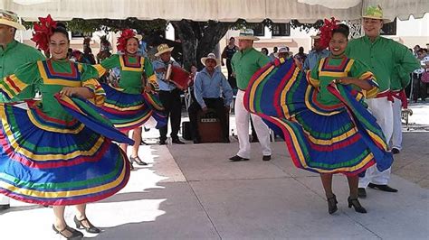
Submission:
[[[380,125],[386,142],[389,143],[393,133],[393,106],[387,97],[378,97],[367,99],[367,104],[372,115],[377,118],[377,124]],[[368,184],[374,183],[386,185],[390,179],[390,168],[380,172],[376,165],[369,167],[365,172],[365,177],[359,178],[359,188],[367,188]]]

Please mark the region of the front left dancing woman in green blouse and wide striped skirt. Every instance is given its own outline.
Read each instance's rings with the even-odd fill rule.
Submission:
[[[106,130],[100,129],[105,120],[101,119],[100,128],[93,121],[90,128],[55,98],[80,97],[102,105],[104,91],[89,77],[97,74],[96,69],[68,60],[65,26],[51,16],[40,20],[34,25],[33,41],[52,58],[25,64],[14,75],[0,79],[0,193],[53,206],[53,231],[79,239],[83,234],[64,220],[65,206],[76,205],[76,227],[100,233],[86,216],[86,203],[124,188],[129,160],[119,145],[99,134]],[[29,104],[29,109],[9,104],[29,89],[39,89],[42,100]],[[112,125],[111,129],[116,131]]]

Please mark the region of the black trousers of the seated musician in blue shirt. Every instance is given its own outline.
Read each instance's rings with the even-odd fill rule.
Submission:
[[[212,108],[215,110],[215,113],[217,117],[219,118],[219,121],[221,123],[222,127],[222,134],[224,137],[228,137],[229,135],[229,129],[228,129],[228,123],[225,115],[225,106],[224,106],[224,99],[219,98],[203,98],[205,101],[205,105],[207,108]],[[198,111],[201,110],[201,106],[198,104],[198,102],[193,102],[191,106],[187,109],[189,113],[189,120],[191,122],[191,133],[193,138],[199,138],[200,135],[198,133],[198,123],[196,120],[196,116],[198,114]]]

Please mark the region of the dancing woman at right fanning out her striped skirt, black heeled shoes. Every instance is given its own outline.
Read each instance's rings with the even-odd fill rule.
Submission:
[[[329,57],[307,73],[293,60],[275,60],[253,75],[244,98],[284,138],[295,166],[319,172],[329,214],[338,210],[332,174],[348,178],[348,208],[366,213],[358,201],[358,173],[376,162],[385,171],[393,162],[364,102],[376,96],[376,79],[364,63],[344,55],[348,33],[347,25],[326,21],[321,41],[329,44]]]

